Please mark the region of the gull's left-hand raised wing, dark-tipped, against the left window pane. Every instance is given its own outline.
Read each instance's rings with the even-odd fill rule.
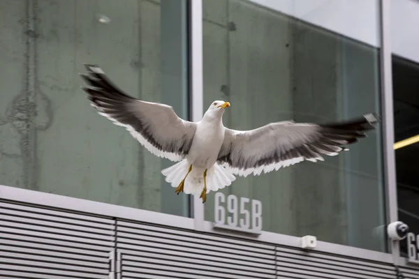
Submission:
[[[108,80],[96,65],[85,65],[80,74],[89,86],[82,89],[98,113],[124,126],[154,155],[173,161],[182,160],[191,147],[196,123],[180,119],[168,105],[132,98]]]

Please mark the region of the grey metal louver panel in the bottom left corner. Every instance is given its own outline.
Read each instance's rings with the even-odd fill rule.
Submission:
[[[0,202],[0,278],[108,279],[115,221]]]

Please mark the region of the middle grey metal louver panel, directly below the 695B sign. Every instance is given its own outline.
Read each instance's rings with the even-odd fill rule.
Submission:
[[[117,221],[122,278],[277,278],[274,246]]]

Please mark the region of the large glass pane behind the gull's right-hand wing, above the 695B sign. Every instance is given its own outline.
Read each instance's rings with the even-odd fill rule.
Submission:
[[[204,110],[213,100],[228,100],[231,107],[223,123],[236,130],[290,119],[325,123],[380,114],[379,47],[304,20],[338,20],[335,6],[311,7],[298,17],[287,15],[286,8],[281,13],[263,6],[275,1],[254,2],[203,1]],[[293,1],[281,1],[286,2]],[[378,13],[378,7],[374,9]],[[233,196],[230,209],[236,206],[243,220],[249,213],[242,209],[251,211],[252,201],[260,202],[263,231],[386,250],[385,239],[374,234],[374,228],[385,223],[381,126],[348,147],[350,151],[326,156],[324,162],[237,176],[231,186],[219,190],[224,197],[208,195],[205,220],[219,220],[214,216],[216,202],[223,202],[223,211],[232,216],[226,198],[234,195],[238,202]],[[258,227],[254,217],[249,220],[256,220]],[[228,225],[228,218],[221,219]],[[240,222],[230,221],[240,227]]]

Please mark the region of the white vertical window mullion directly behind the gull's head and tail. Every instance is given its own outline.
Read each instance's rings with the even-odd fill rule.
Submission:
[[[203,1],[190,0],[189,5],[191,112],[192,121],[200,121],[203,116]],[[204,205],[197,195],[193,195],[191,199],[194,228],[203,231]]]

